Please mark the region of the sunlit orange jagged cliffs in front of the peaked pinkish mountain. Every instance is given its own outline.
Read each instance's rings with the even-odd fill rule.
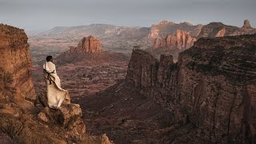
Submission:
[[[195,38],[192,38],[190,34],[187,34],[183,30],[177,30],[176,34],[168,34],[166,38],[156,38],[154,40],[155,49],[166,49],[166,50],[186,50],[193,46]]]

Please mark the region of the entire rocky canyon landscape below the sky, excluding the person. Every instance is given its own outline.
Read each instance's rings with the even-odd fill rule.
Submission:
[[[248,20],[241,28],[163,21],[55,27],[28,40],[24,30],[1,24],[8,61],[0,62],[0,138],[254,143],[254,33]],[[58,111],[45,107],[49,54],[70,94]]]

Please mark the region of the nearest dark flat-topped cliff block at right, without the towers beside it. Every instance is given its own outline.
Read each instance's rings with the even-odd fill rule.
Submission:
[[[214,141],[254,143],[255,40],[200,39],[179,58],[178,98],[190,121]]]

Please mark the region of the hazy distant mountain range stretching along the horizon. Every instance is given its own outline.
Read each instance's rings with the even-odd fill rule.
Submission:
[[[174,23],[168,21],[159,22],[151,27],[127,27],[114,26],[106,24],[92,24],[90,26],[57,26],[43,33],[30,36],[29,42],[32,49],[34,47],[62,47],[67,50],[70,46],[76,46],[79,40],[85,36],[93,35],[102,41],[103,50],[112,50],[118,52],[130,52],[133,46],[141,46],[142,49],[157,46],[154,44],[155,39],[164,42],[164,48],[171,47],[175,50],[175,46],[182,46],[186,42],[186,38],[174,38],[177,31],[182,30],[186,37],[202,38],[202,37],[222,37],[230,35],[254,34],[256,29],[250,26],[250,22],[246,20],[244,26],[227,26],[222,22],[210,22],[208,25],[192,25],[188,22]],[[182,39],[182,43],[169,42],[170,39]],[[191,37],[191,38],[190,38]],[[158,41],[158,42],[159,42]],[[166,41],[166,42],[165,42]],[[190,40],[190,42],[194,42]],[[182,49],[186,50],[193,43],[188,42]],[[171,45],[168,45],[168,43]],[[173,46],[175,43],[175,46]],[[162,45],[159,45],[162,46]]]

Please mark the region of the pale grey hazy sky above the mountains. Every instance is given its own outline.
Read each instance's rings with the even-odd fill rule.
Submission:
[[[162,20],[256,27],[256,0],[0,0],[0,23],[25,30],[106,23],[151,26]]]

